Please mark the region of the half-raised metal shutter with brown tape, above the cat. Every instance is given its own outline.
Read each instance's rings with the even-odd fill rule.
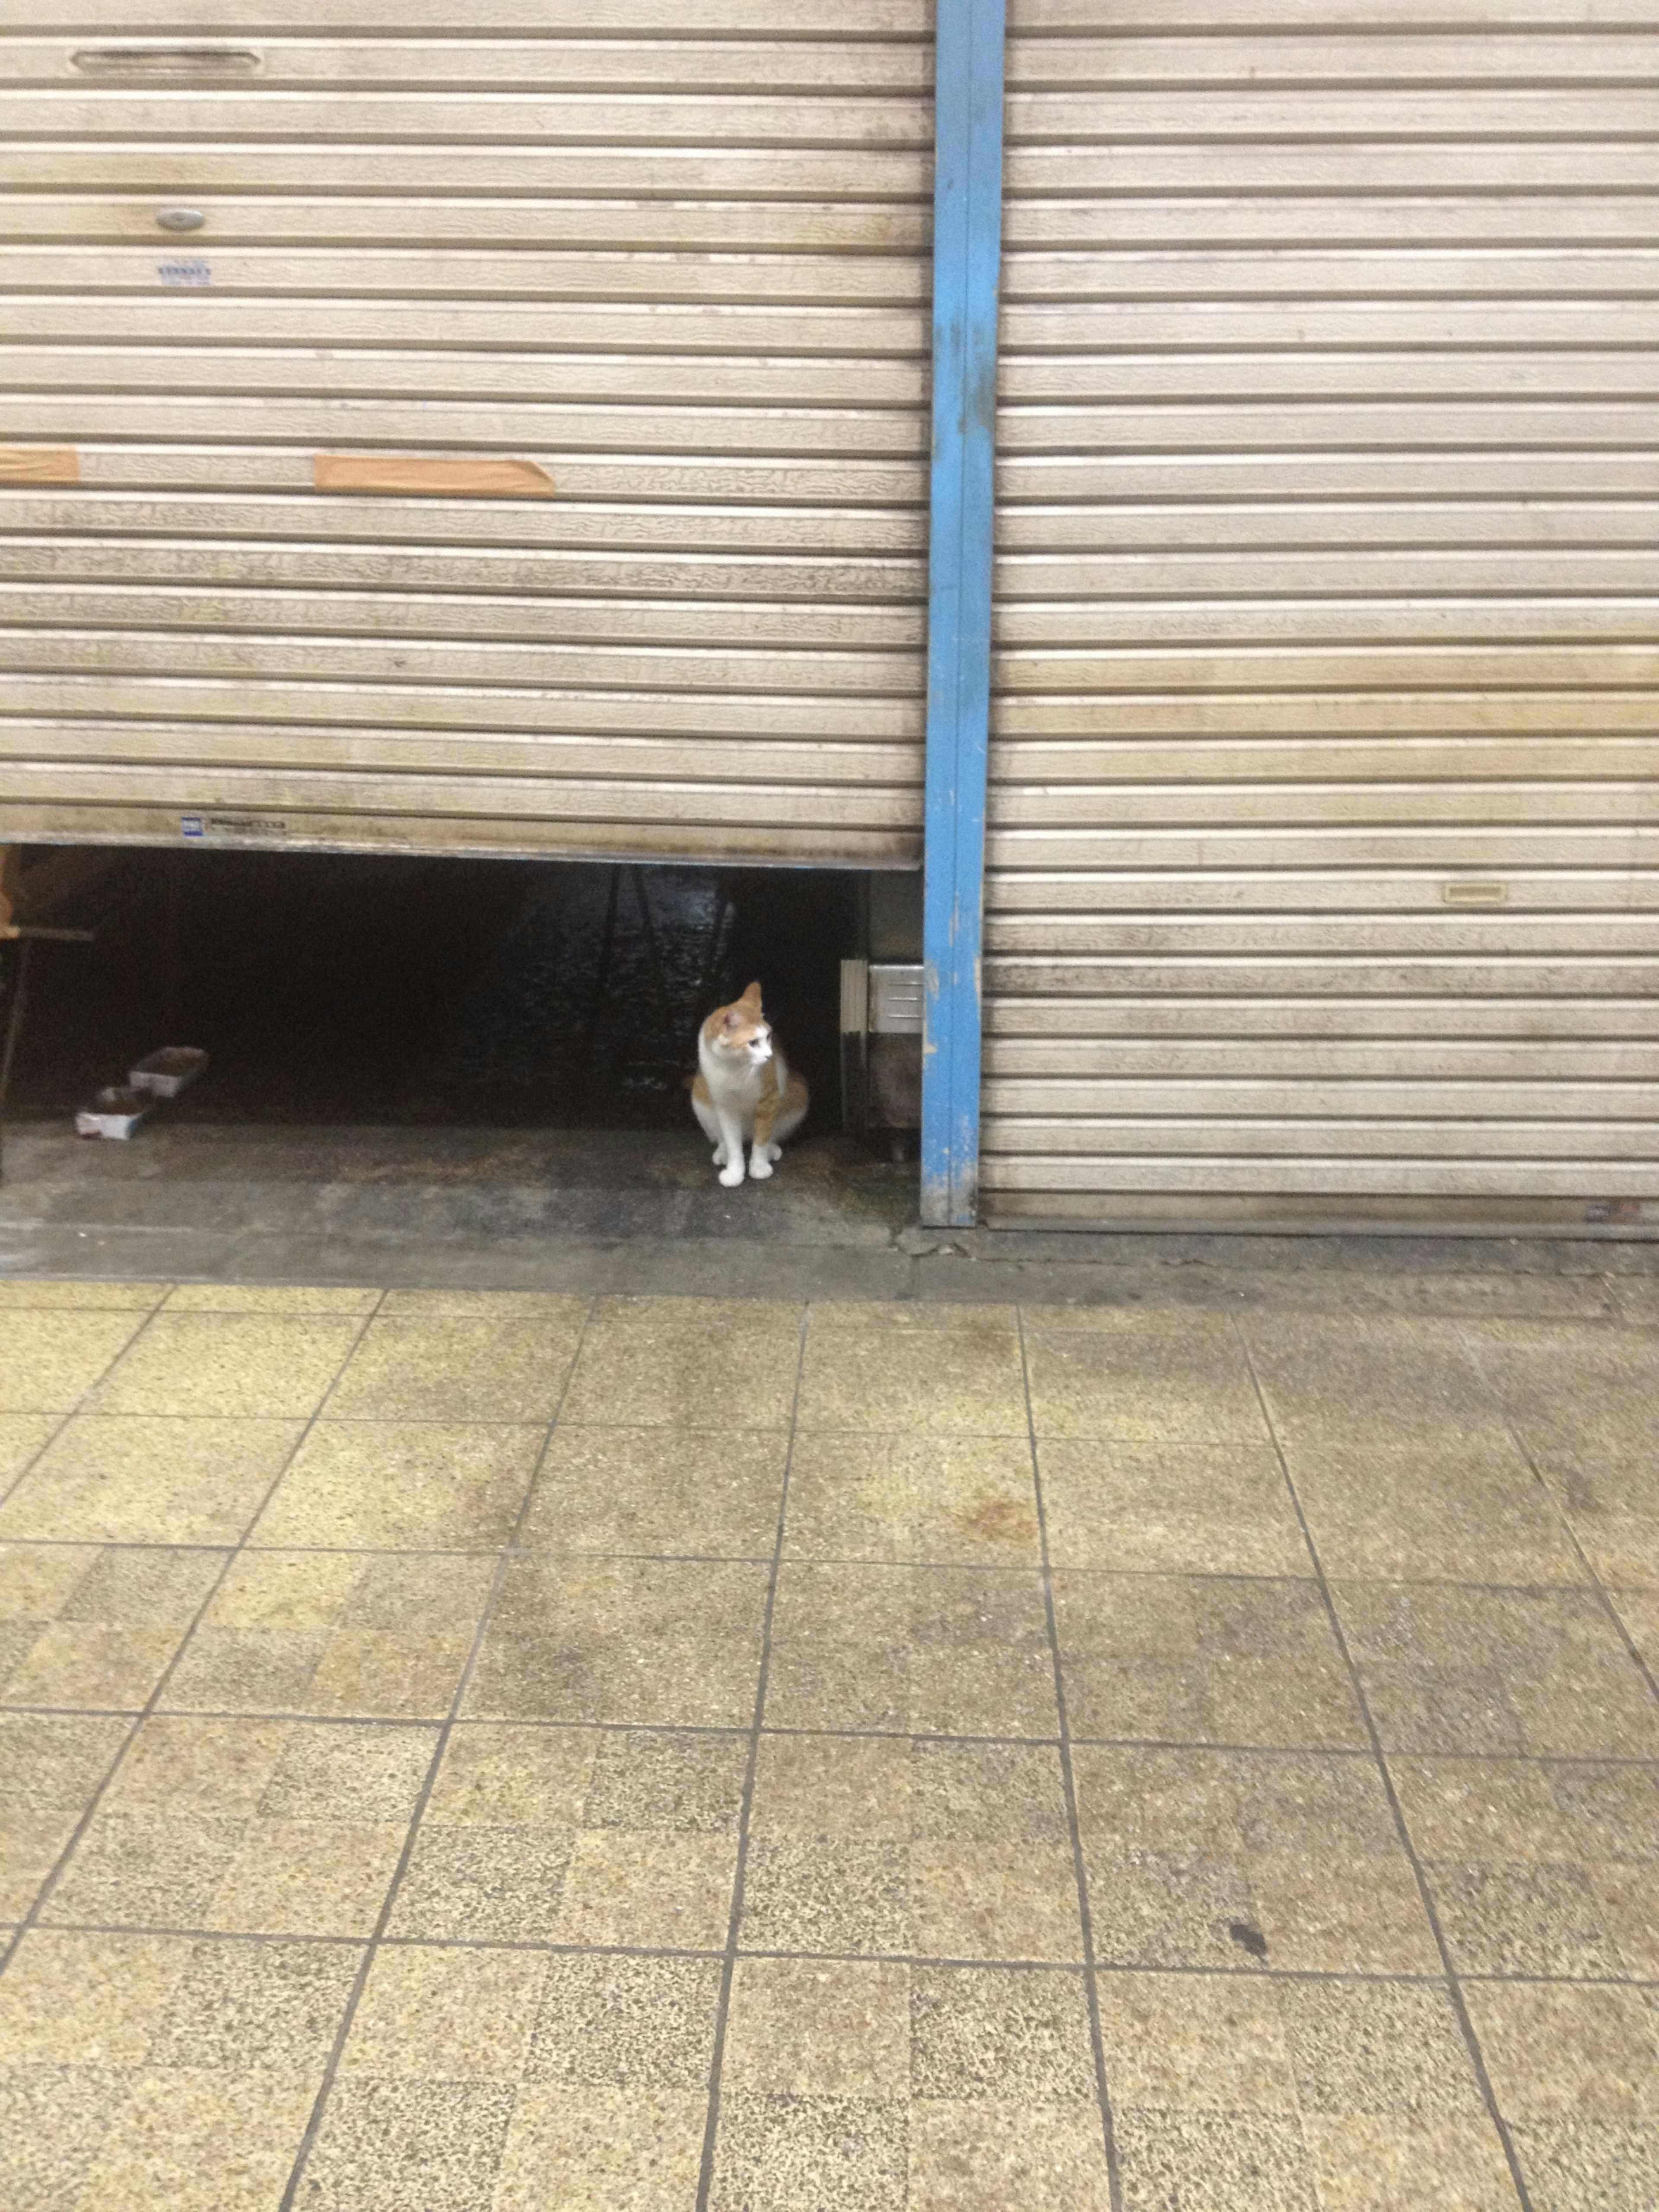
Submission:
[[[0,841],[916,865],[927,0],[69,0],[0,75]]]

